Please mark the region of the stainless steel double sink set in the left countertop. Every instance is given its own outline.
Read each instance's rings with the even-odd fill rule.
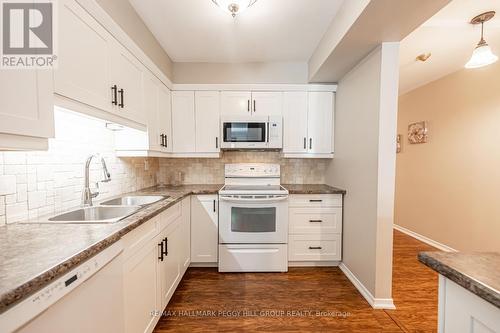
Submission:
[[[169,198],[164,195],[125,195],[101,202],[99,206],[77,208],[37,223],[114,223],[145,206]]]

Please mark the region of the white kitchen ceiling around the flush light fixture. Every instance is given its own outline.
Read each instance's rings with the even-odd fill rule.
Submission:
[[[233,19],[211,0],[129,0],[174,62],[306,62],[344,0],[258,0]]]

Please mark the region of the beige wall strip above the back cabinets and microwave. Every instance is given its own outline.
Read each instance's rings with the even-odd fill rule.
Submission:
[[[307,64],[174,63],[175,83],[307,83]]]

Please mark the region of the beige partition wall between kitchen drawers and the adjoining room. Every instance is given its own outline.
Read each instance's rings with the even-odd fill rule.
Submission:
[[[383,43],[338,83],[335,158],[326,181],[347,190],[343,263],[390,304],[398,43]]]

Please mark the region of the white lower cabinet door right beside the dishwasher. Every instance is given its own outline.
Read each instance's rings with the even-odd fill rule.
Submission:
[[[150,241],[123,265],[125,332],[150,332],[157,307],[158,246]]]

